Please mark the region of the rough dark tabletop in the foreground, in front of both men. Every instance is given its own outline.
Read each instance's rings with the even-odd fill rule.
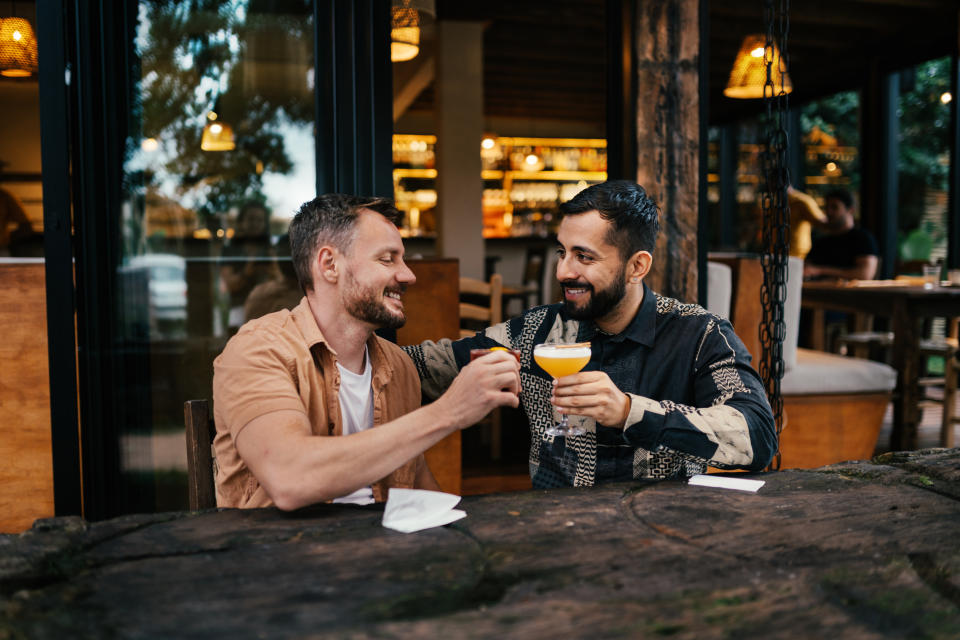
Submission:
[[[0,536],[0,638],[958,638],[960,449],[382,506],[38,521]]]

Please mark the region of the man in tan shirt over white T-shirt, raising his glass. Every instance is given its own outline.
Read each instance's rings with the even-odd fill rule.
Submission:
[[[214,361],[218,506],[368,504],[391,487],[436,489],[423,451],[518,405],[516,360],[499,352],[418,408],[413,365],[374,334],[406,320],[403,292],[415,278],[401,218],[388,200],[328,194],[290,223],[305,297],[243,325]]]

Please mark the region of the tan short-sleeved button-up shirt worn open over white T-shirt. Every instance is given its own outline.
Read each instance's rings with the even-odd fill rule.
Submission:
[[[372,367],[373,424],[390,422],[420,406],[420,379],[396,345],[377,336],[367,342]],[[310,422],[313,435],[340,436],[340,372],[337,355],[324,340],[304,298],[292,311],[252,320],[231,338],[213,363],[213,407],[217,435],[217,505],[267,507],[273,500],[237,452],[237,435],[254,418],[290,409]],[[372,485],[386,500],[389,487],[412,487],[417,456]]]

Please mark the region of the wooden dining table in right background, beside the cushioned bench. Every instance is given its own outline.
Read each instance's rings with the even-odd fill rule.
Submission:
[[[897,370],[897,392],[893,402],[892,449],[915,449],[920,410],[917,378],[921,372],[919,342],[924,318],[960,316],[960,287],[934,287],[874,280],[832,284],[808,282],[803,285],[801,305],[814,310],[813,347],[823,349],[823,311],[889,317],[893,331],[892,366]],[[817,344],[816,340],[820,340]]]

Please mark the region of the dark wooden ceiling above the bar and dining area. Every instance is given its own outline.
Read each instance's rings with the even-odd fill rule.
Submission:
[[[792,102],[857,89],[872,69],[895,71],[958,46],[957,0],[793,0],[788,53]],[[606,117],[604,0],[437,0],[437,18],[476,20],[484,34],[488,116],[602,123]],[[743,37],[764,30],[761,0],[708,0],[712,123],[756,113],[723,96]],[[426,88],[411,110],[433,108]]]

